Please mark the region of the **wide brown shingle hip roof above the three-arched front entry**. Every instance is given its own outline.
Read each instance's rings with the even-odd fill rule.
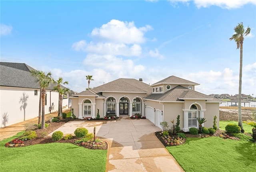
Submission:
[[[120,78],[112,82],[108,82],[96,88],[93,88],[95,92],[139,92],[149,93],[151,88],[148,84],[136,79]]]

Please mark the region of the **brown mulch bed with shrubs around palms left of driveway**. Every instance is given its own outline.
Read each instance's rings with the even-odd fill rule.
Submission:
[[[33,130],[36,132],[36,139],[32,139],[32,140],[26,140],[26,141],[22,141],[20,144],[14,144],[15,140],[18,141],[20,137],[14,139],[13,141],[10,141],[9,144],[14,144],[14,146],[12,147],[25,147],[25,146],[30,146],[30,145],[37,145],[37,144],[46,144],[46,143],[72,143],[74,144],[75,141],[80,140],[81,138],[77,138],[75,136],[73,136],[72,139],[61,139],[60,141],[53,141],[52,137],[44,137],[44,135],[48,135],[50,133],[52,133],[53,131],[55,131],[56,129],[58,129],[59,127],[61,127],[62,125],[65,124],[65,122],[61,121],[61,122],[56,122],[56,123],[49,123],[49,121],[47,121],[46,123],[48,123],[48,127],[45,129],[37,129],[36,125],[31,125],[31,126],[27,126],[30,130]],[[21,136],[22,137],[22,136]],[[92,141],[89,143],[80,143],[80,144],[75,144],[81,147],[85,147],[88,149],[107,149],[108,145],[105,141],[100,140],[100,143],[93,143]],[[94,146],[96,145],[96,146]],[[8,146],[11,147],[11,146]]]

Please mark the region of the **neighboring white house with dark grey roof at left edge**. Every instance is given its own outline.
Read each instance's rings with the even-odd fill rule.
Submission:
[[[40,86],[31,76],[33,69],[24,63],[0,62],[0,127],[38,117]],[[46,114],[58,110],[58,92],[52,91],[53,86],[46,90]]]

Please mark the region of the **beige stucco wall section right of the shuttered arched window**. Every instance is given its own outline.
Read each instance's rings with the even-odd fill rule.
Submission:
[[[220,111],[219,111],[219,103],[206,103],[206,111],[204,112],[204,117],[207,120],[204,123],[204,127],[212,127],[213,125],[213,117],[217,116],[217,127],[219,128],[220,121]]]

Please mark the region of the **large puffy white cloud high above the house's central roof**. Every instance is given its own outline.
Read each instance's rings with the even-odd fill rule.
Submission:
[[[136,44],[144,43],[144,33],[151,29],[152,27],[150,25],[137,28],[134,22],[111,20],[103,24],[100,28],[94,28],[91,35],[100,41]]]

